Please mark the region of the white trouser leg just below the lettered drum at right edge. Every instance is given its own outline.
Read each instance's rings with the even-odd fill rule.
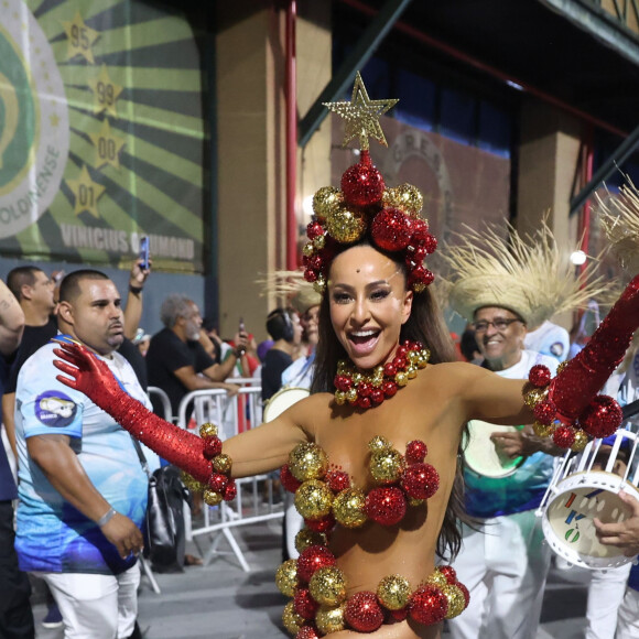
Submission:
[[[628,563],[606,571],[593,571],[588,586],[587,626],[584,639],[615,637],[617,611],[624,599],[631,565]]]

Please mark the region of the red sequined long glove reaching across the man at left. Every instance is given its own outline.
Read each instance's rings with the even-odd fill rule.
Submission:
[[[71,376],[58,375],[62,383],[85,393],[137,440],[208,485],[212,466],[203,454],[201,437],[170,424],[134,400],[120,387],[109,367],[85,346],[59,343],[59,348],[53,351],[65,360],[54,360],[54,366]]]

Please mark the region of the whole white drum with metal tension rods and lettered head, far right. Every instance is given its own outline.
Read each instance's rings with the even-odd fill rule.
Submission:
[[[570,563],[604,570],[632,561],[617,546],[598,541],[593,519],[618,523],[630,515],[618,494],[624,490],[639,499],[638,443],[635,433],[619,430],[609,453],[595,440],[581,455],[568,452],[556,467],[537,515],[552,550]]]

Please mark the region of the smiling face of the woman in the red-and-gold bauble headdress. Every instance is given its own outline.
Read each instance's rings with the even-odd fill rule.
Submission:
[[[353,364],[365,370],[389,361],[413,300],[399,266],[369,246],[350,248],[333,260],[327,294],[333,329]]]

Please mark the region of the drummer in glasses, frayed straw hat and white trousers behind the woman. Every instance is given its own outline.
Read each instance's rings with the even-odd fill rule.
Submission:
[[[539,261],[540,254],[551,254],[539,245],[556,248],[550,230],[543,227],[537,239],[538,245],[526,246],[513,231],[511,242],[522,249],[515,271],[503,268],[510,254],[506,240],[491,234],[466,236],[462,245],[450,247],[443,256],[463,273],[453,278],[450,304],[473,323],[484,357],[480,366],[506,378],[528,379],[530,369],[538,364],[548,366],[554,375],[559,365],[554,357],[524,348],[527,327],[542,324],[556,310],[548,280],[556,278],[554,288],[560,289],[567,275],[552,272],[552,259],[545,264]],[[499,260],[476,250],[486,245],[496,250]],[[534,289],[532,284],[540,281],[544,281],[544,286]],[[570,306],[570,299],[557,299],[564,307]],[[490,433],[485,432],[486,436]],[[552,479],[553,457],[545,453],[559,453],[559,448],[537,437],[531,426],[494,432],[490,438],[500,457],[521,457],[521,464],[512,474],[498,478],[465,467],[466,509],[478,522],[463,528],[455,568],[470,592],[470,604],[464,615],[451,620],[451,636],[533,638],[550,563],[550,549],[542,544],[534,510]]]

